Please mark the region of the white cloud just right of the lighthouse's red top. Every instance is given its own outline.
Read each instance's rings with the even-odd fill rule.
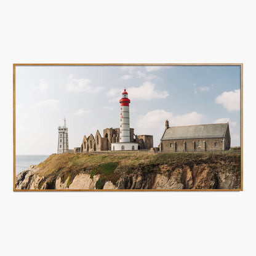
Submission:
[[[130,98],[151,100],[152,98],[166,98],[169,93],[166,90],[156,90],[155,84],[150,81],[143,82],[140,87],[129,87],[127,92]]]

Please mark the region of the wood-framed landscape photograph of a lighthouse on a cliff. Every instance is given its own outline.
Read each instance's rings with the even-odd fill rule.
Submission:
[[[242,64],[14,64],[14,191],[241,191]]]

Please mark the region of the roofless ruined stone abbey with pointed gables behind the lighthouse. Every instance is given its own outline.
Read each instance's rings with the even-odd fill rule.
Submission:
[[[74,148],[74,153],[110,151],[111,143],[119,142],[119,134],[119,128],[106,128],[103,130],[103,137],[98,130],[95,137],[92,134],[89,137],[84,135],[82,145],[79,148]],[[138,143],[138,150],[150,150],[153,148],[153,135],[135,135],[134,128],[130,128],[130,142]]]

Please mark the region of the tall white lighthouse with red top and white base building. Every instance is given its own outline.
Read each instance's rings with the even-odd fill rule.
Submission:
[[[120,133],[119,142],[111,143],[111,150],[138,150],[138,143],[130,142],[130,100],[126,89],[122,92],[120,102]]]

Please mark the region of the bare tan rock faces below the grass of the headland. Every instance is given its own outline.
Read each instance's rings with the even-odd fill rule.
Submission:
[[[68,185],[68,178],[48,180],[36,173],[38,169],[25,170],[16,176],[17,190],[96,190],[100,175],[78,174]],[[124,173],[113,184],[107,180],[103,190],[190,190],[190,189],[236,189],[237,177],[231,173],[212,172],[206,165],[183,167],[169,174],[150,173],[143,175]]]

